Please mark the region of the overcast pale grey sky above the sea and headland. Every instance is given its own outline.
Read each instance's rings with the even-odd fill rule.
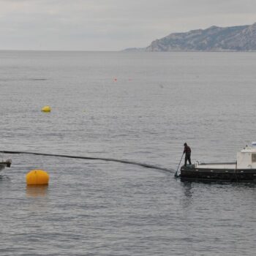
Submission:
[[[0,0],[0,49],[121,50],[256,22],[256,0]]]

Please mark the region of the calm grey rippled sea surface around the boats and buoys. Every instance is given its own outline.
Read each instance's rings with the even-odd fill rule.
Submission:
[[[0,51],[1,255],[255,255],[255,184],[173,178],[255,138],[256,53]],[[50,105],[51,113],[42,113]],[[29,170],[48,187],[26,187]]]

